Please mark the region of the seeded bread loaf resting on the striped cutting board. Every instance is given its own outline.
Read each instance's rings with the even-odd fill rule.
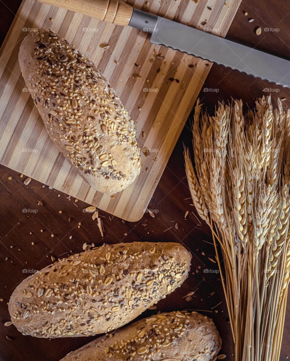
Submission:
[[[59,35],[23,40],[19,63],[49,136],[90,186],[116,193],[140,173],[134,123],[95,65]]]

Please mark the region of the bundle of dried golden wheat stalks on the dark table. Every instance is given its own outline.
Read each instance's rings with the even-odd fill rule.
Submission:
[[[290,112],[278,99],[196,104],[191,196],[211,227],[237,361],[278,361],[290,281]],[[223,268],[218,257],[221,246]]]

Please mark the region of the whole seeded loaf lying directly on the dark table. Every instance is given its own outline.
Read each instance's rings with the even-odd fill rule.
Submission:
[[[190,254],[178,243],[105,245],[64,258],[23,280],[9,301],[25,335],[101,334],[123,326],[187,277]]]

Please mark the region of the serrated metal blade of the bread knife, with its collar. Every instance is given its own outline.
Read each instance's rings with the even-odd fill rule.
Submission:
[[[150,32],[153,44],[290,87],[289,60],[137,9],[134,9],[129,25]]]

